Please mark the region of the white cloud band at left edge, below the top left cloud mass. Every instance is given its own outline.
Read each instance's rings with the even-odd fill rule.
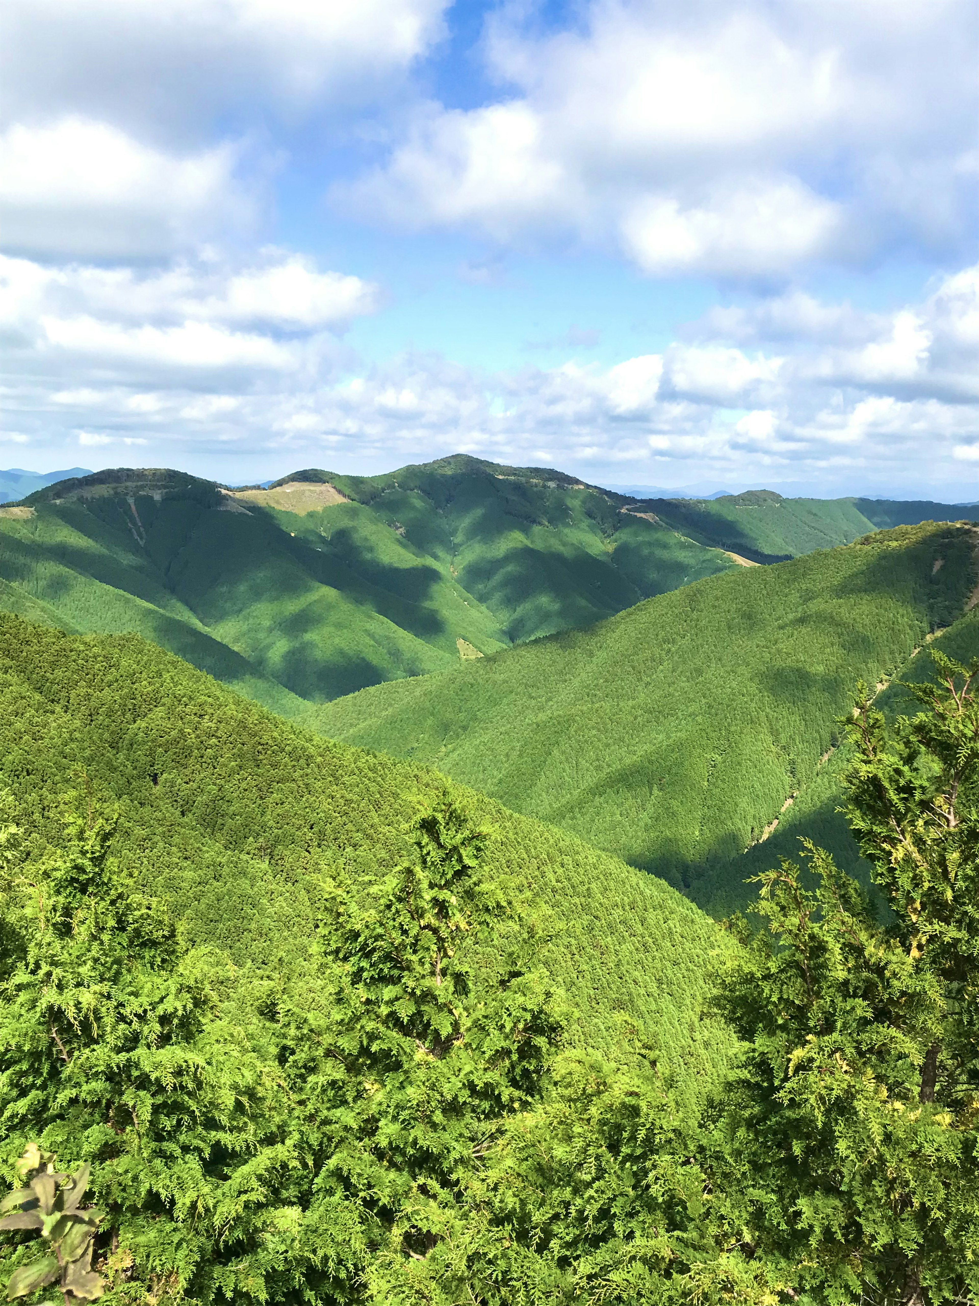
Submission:
[[[56,380],[57,405],[114,407],[121,396],[136,419],[166,406],[146,387],[214,388],[231,376],[245,389],[270,376],[308,384],[346,357],[337,332],[376,303],[376,286],[278,251],[257,266],[184,263],[142,274],[0,257],[12,375]],[[70,384],[91,377],[102,385]],[[136,394],[106,389],[110,381]]]

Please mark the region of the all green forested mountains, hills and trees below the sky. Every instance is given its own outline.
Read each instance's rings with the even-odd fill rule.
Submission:
[[[974,1302],[978,554],[469,457],[0,507],[8,1296]]]

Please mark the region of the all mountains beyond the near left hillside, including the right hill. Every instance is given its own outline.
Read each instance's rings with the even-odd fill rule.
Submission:
[[[0,508],[0,609],[136,632],[319,735],[440,772],[715,916],[835,812],[863,678],[975,639],[959,505],[638,499],[457,456],[228,488],[116,469]]]

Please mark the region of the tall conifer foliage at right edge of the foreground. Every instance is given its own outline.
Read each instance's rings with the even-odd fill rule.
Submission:
[[[760,932],[718,1008],[749,1043],[724,1109],[728,1195],[758,1252],[817,1301],[979,1292],[979,703],[939,654],[925,712],[889,730],[864,690],[846,721],[847,815],[890,909],[833,859],[760,876]]]

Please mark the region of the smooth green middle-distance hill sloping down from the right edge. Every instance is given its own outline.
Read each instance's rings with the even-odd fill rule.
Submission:
[[[799,833],[855,862],[834,812],[835,720],[858,678],[885,687],[936,631],[979,652],[962,615],[975,569],[974,526],[875,533],[305,720],[436,765],[723,914]]]

